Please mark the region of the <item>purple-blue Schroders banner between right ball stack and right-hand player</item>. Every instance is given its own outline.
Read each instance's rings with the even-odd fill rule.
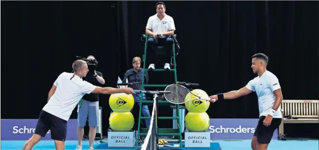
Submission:
[[[212,140],[251,139],[259,119],[210,119]],[[277,139],[278,129],[274,131],[272,139]]]

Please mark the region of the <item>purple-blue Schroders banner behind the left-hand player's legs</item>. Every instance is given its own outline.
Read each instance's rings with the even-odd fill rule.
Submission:
[[[36,129],[38,119],[1,119],[2,140],[28,140]],[[77,119],[69,119],[66,140],[77,140]],[[50,130],[43,140],[51,140]]]

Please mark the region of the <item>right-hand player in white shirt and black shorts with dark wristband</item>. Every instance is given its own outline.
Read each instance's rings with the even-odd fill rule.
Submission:
[[[258,53],[252,56],[251,68],[258,76],[236,91],[210,96],[213,99],[235,99],[255,91],[258,96],[259,121],[251,141],[251,148],[266,150],[271,141],[273,132],[279,127],[282,115],[279,106],[283,99],[281,87],[277,77],[266,69],[268,57]]]

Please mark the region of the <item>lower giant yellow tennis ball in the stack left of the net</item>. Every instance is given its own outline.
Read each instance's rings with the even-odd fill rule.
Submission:
[[[127,132],[134,126],[134,116],[130,111],[112,112],[109,118],[109,124],[113,131]]]

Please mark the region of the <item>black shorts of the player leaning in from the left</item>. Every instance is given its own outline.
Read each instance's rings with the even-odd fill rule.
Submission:
[[[39,134],[44,137],[49,130],[51,131],[52,139],[65,141],[67,134],[67,121],[42,110],[40,112],[35,134]]]

